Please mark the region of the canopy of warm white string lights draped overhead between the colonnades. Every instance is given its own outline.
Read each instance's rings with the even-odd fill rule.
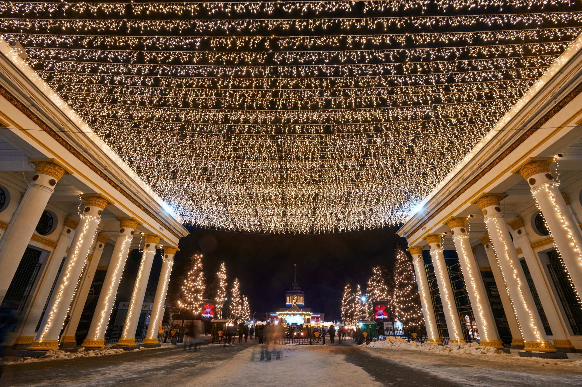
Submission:
[[[573,0],[0,3],[0,37],[186,223],[407,218],[582,32]]]

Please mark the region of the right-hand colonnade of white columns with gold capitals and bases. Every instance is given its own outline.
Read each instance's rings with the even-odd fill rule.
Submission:
[[[556,250],[563,259],[574,292],[582,291],[582,234],[572,210],[567,206],[558,184],[550,170],[551,160],[530,160],[520,167],[521,176],[528,182],[533,199],[537,203],[553,238]],[[572,349],[567,332],[560,323],[558,304],[551,294],[550,285],[544,275],[539,257],[531,248],[523,219],[517,218],[506,223],[500,206],[502,193],[482,193],[475,202],[484,216],[487,232],[481,238],[495,283],[499,289],[503,309],[508,318],[513,336],[512,346],[523,346],[528,352],[556,352],[556,347]],[[485,291],[480,270],[469,242],[466,217],[451,217],[446,220],[459,264],[467,287],[475,322],[481,338],[481,345],[502,348],[501,339],[495,324],[491,306]],[[510,234],[510,228],[513,234]],[[442,234],[424,235],[424,242],[430,249],[435,277],[445,311],[446,327],[451,342],[463,342],[462,321],[457,313],[449,274],[446,269],[442,250]],[[512,239],[513,238],[513,239]],[[440,342],[438,327],[428,289],[427,274],[422,258],[423,245],[411,246],[414,270],[423,306],[424,320],[428,339]],[[552,329],[553,343],[542,326],[540,314],[528,286],[526,275],[521,266],[517,251],[521,250],[530,270],[534,285],[540,293],[539,298],[547,314]]]

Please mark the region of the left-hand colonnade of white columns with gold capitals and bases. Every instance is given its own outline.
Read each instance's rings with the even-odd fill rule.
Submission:
[[[55,185],[66,173],[64,167],[54,160],[31,160],[36,166],[33,179],[26,193],[19,203],[9,226],[0,239],[0,302],[16,273],[20,257],[29,244],[34,230],[40,220],[48,200],[54,192]],[[79,324],[83,306],[86,302],[91,282],[97,270],[101,253],[109,236],[97,234],[101,215],[105,208],[112,203],[105,196],[95,193],[81,195],[84,207],[77,223],[72,218],[66,218],[65,229],[56,245],[55,252],[49,256],[44,271],[47,278],[39,282],[41,289],[35,291],[31,307],[22,321],[22,335],[17,337],[16,345],[28,345],[28,350],[47,351],[58,349],[61,346],[74,346],[75,332]],[[111,257],[107,274],[102,285],[101,293],[95,308],[87,338],[83,347],[104,347],[105,331],[111,316],[113,302],[118,292],[123,268],[130,252],[136,228],[139,223],[134,218],[117,218],[119,221],[118,237]],[[162,320],[166,291],[172,271],[173,256],[178,248],[161,246],[161,237],[156,234],[145,234],[145,248],[141,257],[139,273],[134,285],[130,309],[123,326],[123,336],[119,346],[135,345],[137,321],[141,313],[145,288],[150,277],[151,266],[156,249],[164,248],[162,271],[159,278],[154,300],[154,310],[150,317],[150,327],[147,334],[147,343],[157,344],[157,329]],[[92,254],[91,249],[93,248]],[[62,268],[56,277],[61,263],[59,258],[65,256]],[[16,259],[17,257],[17,259]],[[52,276],[52,277],[51,277]],[[56,282],[55,282],[56,277]],[[40,318],[42,306],[47,302],[44,316],[36,335],[36,325]],[[43,299],[44,296],[44,299]],[[65,326],[65,321],[68,323]],[[63,329],[64,327],[64,329]],[[34,335],[34,336],[33,336]]]

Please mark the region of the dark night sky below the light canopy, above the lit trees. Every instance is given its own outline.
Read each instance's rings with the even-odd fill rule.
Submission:
[[[406,241],[395,234],[397,227],[319,235],[243,234],[188,227],[191,234],[180,241],[176,254],[171,296],[179,292],[178,278],[189,263],[189,256],[204,254],[207,286],[222,261],[226,262],[229,288],[238,277],[241,291],[249,297],[251,313],[275,311],[285,306],[285,291],[293,281],[293,264],[297,263],[297,281],[306,293],[306,307],[324,312],[325,320],[337,320],[343,286],[348,277],[365,289],[372,267],[392,269],[394,249]],[[132,254],[123,275],[120,300],[129,300],[132,277],[139,266],[139,254]],[[148,291],[155,291],[161,267],[156,256]]]

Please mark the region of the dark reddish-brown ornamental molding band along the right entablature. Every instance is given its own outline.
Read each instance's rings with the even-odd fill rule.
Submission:
[[[1,91],[2,90],[0,88],[0,92]],[[425,225],[427,225],[429,221],[434,219],[435,216],[437,216],[444,209],[446,209],[446,207],[448,207],[455,200],[457,200],[457,198],[459,198],[459,196],[463,195],[463,193],[465,191],[467,191],[467,189],[473,187],[473,185],[475,185],[477,183],[477,181],[481,180],[481,178],[484,177],[485,174],[489,173],[489,171],[491,171],[497,164],[501,163],[502,160],[505,159],[505,157],[509,156],[509,154],[511,152],[513,152],[513,150],[515,150],[524,141],[526,141],[528,138],[530,138],[531,135],[533,135],[535,132],[537,132],[538,129],[540,129],[546,122],[548,122],[549,119],[551,119],[553,116],[555,116],[556,113],[558,113],[560,110],[562,110],[568,103],[570,103],[570,101],[572,101],[574,98],[576,98],[581,92],[582,92],[582,83],[577,85],[576,88],[574,88],[572,91],[570,91],[568,95],[564,96],[564,98],[562,98],[560,100],[560,102],[556,103],[556,105],[554,105],[552,107],[552,109],[550,109],[547,113],[545,113],[544,116],[542,116],[539,120],[537,120],[535,122],[535,124],[533,124],[526,132],[524,132],[524,134],[522,134],[516,141],[514,141],[508,147],[508,149],[505,149],[501,153],[501,155],[495,157],[495,159],[491,163],[487,164],[486,167],[482,168],[480,173],[478,173],[469,182],[467,182],[467,184],[465,184],[462,188],[460,188],[459,191],[457,191],[454,195],[450,196],[450,198],[448,200],[446,200],[445,203],[442,203],[442,205],[440,207],[438,207],[437,210],[432,212],[430,215],[425,216],[424,221],[422,221],[418,225],[417,228],[415,228],[413,231],[411,231],[409,233],[409,235],[416,234],[421,228],[423,228]],[[582,225],[580,227],[582,228]]]

